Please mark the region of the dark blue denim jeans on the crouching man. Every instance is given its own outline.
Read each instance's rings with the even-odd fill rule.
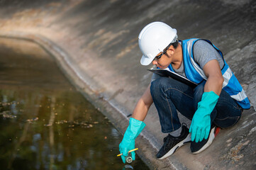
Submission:
[[[177,111],[192,120],[197,104],[204,93],[201,82],[196,88],[172,78],[160,77],[152,81],[150,93],[160,118],[162,132],[172,132],[181,127]],[[238,122],[243,109],[230,95],[222,90],[215,108],[211,112],[211,123],[220,128],[228,128]]]

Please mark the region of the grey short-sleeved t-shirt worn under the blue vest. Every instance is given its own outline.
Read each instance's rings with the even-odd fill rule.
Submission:
[[[218,60],[221,68],[223,68],[224,66],[223,58],[221,57],[221,55],[210,43],[206,42],[205,40],[198,40],[194,43],[193,54],[195,62],[199,64],[201,69],[203,69],[204,65],[211,60]],[[184,72],[184,63],[182,62],[179,69],[174,69],[174,72],[182,75],[183,77],[186,77]],[[154,73],[152,75],[151,81],[154,81],[158,77],[160,76]]]

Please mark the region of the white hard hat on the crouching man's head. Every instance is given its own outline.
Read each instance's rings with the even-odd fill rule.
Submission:
[[[143,52],[140,64],[150,64],[158,53],[163,52],[176,39],[177,30],[166,23],[153,22],[145,26],[138,37],[140,51]]]

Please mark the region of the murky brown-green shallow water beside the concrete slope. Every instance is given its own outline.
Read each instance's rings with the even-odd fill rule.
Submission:
[[[38,45],[0,39],[1,169],[125,169],[122,137]]]

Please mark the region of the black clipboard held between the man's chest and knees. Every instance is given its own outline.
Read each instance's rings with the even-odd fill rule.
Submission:
[[[172,77],[172,79],[181,81],[182,83],[187,84],[193,88],[195,88],[197,86],[196,83],[194,83],[193,81],[190,81],[186,77],[182,77],[181,75],[174,73],[174,72],[169,72],[166,69],[148,69],[148,71],[158,74],[158,75],[160,75],[160,77]]]

